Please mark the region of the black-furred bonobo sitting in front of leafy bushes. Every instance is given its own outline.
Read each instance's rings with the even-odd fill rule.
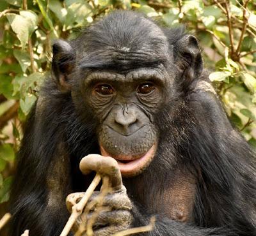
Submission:
[[[53,54],[19,152],[10,235],[60,235],[66,196],[94,176],[79,171],[88,154],[115,158],[126,188],[109,193],[117,207],[95,235],[151,216],[154,230],[141,235],[256,235],[255,153],[228,121],[194,36],[114,11]]]

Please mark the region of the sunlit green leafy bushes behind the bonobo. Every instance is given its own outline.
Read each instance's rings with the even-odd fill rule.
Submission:
[[[185,24],[231,121],[256,146],[256,0],[1,0],[0,218],[6,210],[22,123],[51,68],[51,44],[115,9]]]

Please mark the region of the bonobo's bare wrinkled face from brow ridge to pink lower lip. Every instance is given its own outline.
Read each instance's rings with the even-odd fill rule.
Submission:
[[[124,177],[141,173],[156,154],[154,114],[166,97],[162,67],[129,73],[92,71],[83,81],[84,100],[100,121],[101,154],[115,158]]]

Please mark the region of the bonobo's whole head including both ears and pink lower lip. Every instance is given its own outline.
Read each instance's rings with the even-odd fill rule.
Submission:
[[[163,124],[156,115],[171,109],[172,100],[202,72],[195,37],[115,11],[53,49],[54,78],[61,91],[71,92],[84,122],[97,122],[101,154],[115,158],[124,177],[141,173],[159,145]]]

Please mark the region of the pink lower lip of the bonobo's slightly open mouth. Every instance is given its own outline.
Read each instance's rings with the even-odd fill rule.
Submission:
[[[120,158],[118,156],[118,158],[115,158],[115,156],[108,154],[108,152],[106,152],[105,149],[100,145],[100,152],[102,156],[111,156],[112,158],[116,159],[123,177],[132,177],[143,172],[143,170],[148,167],[154,158],[156,149],[157,144],[154,144],[146,153],[140,157],[134,158],[132,156],[122,156],[122,158]]]

